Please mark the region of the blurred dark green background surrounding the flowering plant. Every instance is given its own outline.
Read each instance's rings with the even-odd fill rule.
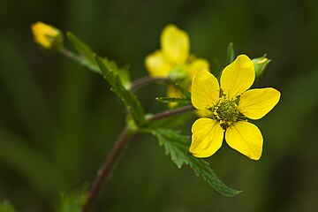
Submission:
[[[92,49],[147,75],[165,25],[186,30],[191,51],[225,64],[226,48],[273,61],[254,87],[276,87],[281,101],[256,122],[264,137],[254,162],[224,143],[208,158],[234,198],[181,170],[155,138],[125,148],[95,211],[318,211],[318,4],[307,1],[0,0],[0,200],[20,211],[54,211],[62,192],[90,185],[121,127],[125,109],[101,76],[34,44],[38,20],[72,31]],[[66,45],[70,43],[66,42]],[[70,46],[70,45],[69,45]],[[163,110],[160,86],[138,95]],[[191,120],[186,123],[190,133]]]

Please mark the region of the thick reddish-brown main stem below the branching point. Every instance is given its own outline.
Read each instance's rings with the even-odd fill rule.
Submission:
[[[114,163],[116,163],[118,156],[125,147],[125,143],[132,136],[133,133],[128,129],[127,126],[125,126],[123,131],[119,134],[117,141],[114,144],[114,147],[110,151],[110,154],[107,156],[105,162],[103,163],[102,168],[98,170],[94,183],[88,192],[87,201],[84,202],[84,205],[82,207],[82,212],[90,211],[90,208],[94,204],[97,194],[102,189],[103,183],[110,174],[111,168],[113,167]]]

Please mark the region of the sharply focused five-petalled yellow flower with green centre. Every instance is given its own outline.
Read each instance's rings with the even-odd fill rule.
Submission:
[[[279,101],[280,93],[272,87],[247,90],[254,79],[254,64],[246,55],[240,55],[224,68],[221,86],[211,73],[197,72],[192,84],[193,106],[209,110],[210,117],[201,117],[193,123],[190,152],[194,156],[215,154],[225,133],[231,148],[251,159],[260,159],[261,131],[247,118],[264,117]]]

